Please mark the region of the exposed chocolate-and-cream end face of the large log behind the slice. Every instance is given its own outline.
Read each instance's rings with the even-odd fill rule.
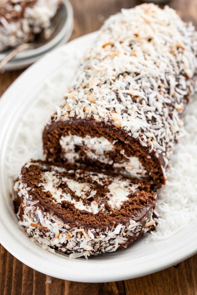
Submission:
[[[53,122],[43,132],[44,152],[54,163],[86,164],[159,187],[163,161],[114,124],[94,118]]]

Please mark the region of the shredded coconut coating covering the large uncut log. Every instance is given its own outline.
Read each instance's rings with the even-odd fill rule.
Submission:
[[[102,26],[52,121],[94,117],[139,138],[168,165],[194,93],[197,35],[176,12],[142,4]]]

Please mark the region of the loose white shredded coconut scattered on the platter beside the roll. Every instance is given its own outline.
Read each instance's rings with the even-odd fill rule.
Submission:
[[[169,14],[169,17],[171,17],[171,14]],[[87,42],[87,47],[88,46]],[[59,54],[62,58],[62,67],[55,73],[51,73],[48,80],[44,81],[43,85],[38,88],[38,92],[32,97],[32,102],[34,101],[34,103],[28,106],[26,113],[21,116],[19,124],[16,125],[18,128],[17,139],[6,153],[6,170],[9,176],[12,177],[13,182],[18,176],[21,166],[25,162],[30,158],[43,158],[43,126],[48,121],[51,111],[55,111],[56,104],[61,103],[65,87],[69,85],[72,75],[74,75],[78,66],[77,60],[79,60],[83,52],[81,47],[80,49],[73,48],[72,52],[71,50],[66,50],[66,47],[62,47],[59,50]],[[140,79],[143,75],[145,74],[141,73],[140,76],[136,76],[135,79]],[[154,85],[154,81],[151,81]],[[148,82],[142,81],[142,83],[146,85]],[[181,85],[183,89],[185,89],[184,79],[182,79]],[[154,86],[154,88],[156,88],[156,86]],[[149,96],[151,102],[154,99],[154,95],[153,93],[152,96]],[[120,99],[124,101],[125,97],[120,95]],[[167,183],[158,191],[156,212],[159,215],[159,224],[156,227],[156,231],[149,235],[149,238],[165,239],[174,235],[183,227],[187,227],[190,222],[197,219],[196,96],[193,102],[186,108],[184,122],[185,132],[183,132],[184,130],[182,127],[181,132],[185,133],[185,136],[182,137],[175,146],[174,155],[168,163],[170,168],[167,169]],[[161,123],[157,122],[153,129],[158,130],[161,126]],[[138,135],[138,133],[135,134],[135,136]],[[167,136],[167,134],[165,136]],[[160,134],[160,138],[163,138],[163,134]],[[16,189],[17,185],[15,187]],[[27,189],[28,188],[26,188],[26,190]],[[57,222],[54,217],[52,217],[52,220]],[[94,235],[95,233],[92,233],[92,239]],[[63,239],[64,236],[62,237],[62,240]],[[51,248],[49,249],[51,251],[53,250]],[[108,249],[110,250],[110,248]],[[81,256],[83,255],[82,253],[72,255],[76,256],[79,254]]]

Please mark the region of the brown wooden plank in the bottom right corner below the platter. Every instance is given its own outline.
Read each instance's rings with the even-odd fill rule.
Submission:
[[[149,276],[125,281],[126,295],[197,294],[197,255]]]

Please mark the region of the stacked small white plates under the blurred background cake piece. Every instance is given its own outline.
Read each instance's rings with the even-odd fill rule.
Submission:
[[[10,60],[3,68],[4,71],[17,70],[25,68],[37,61],[44,54],[48,53],[53,48],[64,44],[69,40],[73,30],[73,9],[68,0],[61,0],[62,5],[58,9],[56,20],[58,25],[52,33],[50,40],[39,44],[34,49],[28,49],[18,53]],[[36,42],[35,42],[36,43]],[[0,61],[3,60],[11,50],[6,50],[0,53]]]

